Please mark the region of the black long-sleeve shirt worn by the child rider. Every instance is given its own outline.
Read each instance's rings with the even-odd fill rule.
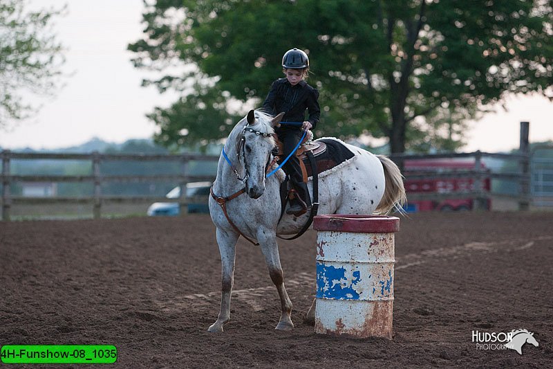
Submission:
[[[319,91],[306,81],[302,80],[292,86],[286,78],[279,78],[272,83],[267,98],[263,102],[263,110],[273,116],[284,111],[283,122],[303,122],[306,120],[307,110],[311,129],[315,129],[321,118],[318,98]]]

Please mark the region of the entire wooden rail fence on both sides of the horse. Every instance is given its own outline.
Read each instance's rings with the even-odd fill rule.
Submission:
[[[523,136],[523,127],[521,126],[521,136]],[[447,179],[447,178],[468,178],[473,181],[474,186],[470,189],[458,190],[455,192],[419,192],[409,193],[409,199],[416,201],[421,199],[435,199],[441,201],[443,199],[454,199],[456,197],[474,197],[476,199],[474,210],[483,210],[486,207],[490,197],[505,196],[500,193],[485,190],[484,181],[487,178],[501,179],[504,181],[513,181],[518,183],[518,191],[516,195],[508,195],[510,198],[518,201],[518,208],[527,210],[529,208],[530,196],[530,172],[529,160],[530,154],[527,150],[527,145],[521,143],[521,150],[516,154],[498,154],[489,152],[469,152],[469,153],[448,153],[448,154],[426,154],[426,155],[391,155],[390,158],[395,161],[400,168],[404,167],[404,163],[410,160],[420,159],[462,159],[474,158],[474,167],[470,170],[403,170],[406,179]],[[515,161],[518,172],[494,172],[482,166],[482,159],[493,158],[502,159],[505,161]],[[163,201],[163,202],[178,202],[181,213],[185,213],[185,206],[194,201],[203,200],[205,197],[186,197],[186,184],[191,181],[213,181],[214,176],[197,176],[191,175],[188,171],[188,166],[191,161],[217,161],[218,156],[202,155],[202,154],[99,154],[93,152],[91,154],[36,154],[36,153],[21,153],[10,152],[4,150],[1,152],[2,159],[2,219],[10,220],[10,208],[12,205],[19,204],[92,204],[93,216],[100,218],[102,215],[102,204],[108,202],[114,203],[138,203],[146,201]],[[21,175],[11,174],[10,165],[14,159],[42,160],[42,159],[60,159],[60,160],[84,160],[91,161],[92,173],[88,175]],[[180,163],[180,174],[160,174],[160,175],[106,175],[100,171],[100,163],[109,161],[140,161],[140,162],[163,162],[176,161]],[[90,196],[76,197],[24,197],[12,195],[10,189],[13,183],[17,182],[73,182],[73,183],[93,183],[93,194]],[[143,183],[151,181],[166,181],[179,183],[180,197],[178,199],[167,199],[160,196],[111,196],[102,194],[102,184],[110,182],[131,182]]]

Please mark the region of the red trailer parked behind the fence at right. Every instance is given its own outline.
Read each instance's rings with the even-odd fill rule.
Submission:
[[[482,163],[482,169],[485,165]],[[474,161],[453,160],[453,159],[418,159],[407,160],[404,163],[404,172],[406,173],[405,190],[407,199],[409,194],[415,193],[450,193],[460,192],[459,197],[442,199],[442,200],[409,200],[406,206],[407,212],[417,211],[463,211],[471,210],[474,206],[475,198],[472,194],[463,195],[462,192],[474,192],[474,179],[462,177],[456,172],[466,172],[474,170]],[[432,177],[433,174],[448,172],[451,177],[440,177],[435,179],[413,178],[409,176],[413,174],[428,174]],[[486,192],[490,190],[490,179],[486,177],[482,183]],[[487,210],[491,208],[491,200],[487,201]]]

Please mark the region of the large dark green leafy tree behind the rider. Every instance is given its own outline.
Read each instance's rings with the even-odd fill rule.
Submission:
[[[182,91],[150,115],[165,145],[225,136],[295,46],[321,92],[317,134],[387,136],[392,152],[455,149],[482,105],[548,93],[552,14],[550,0],[158,0],[129,50],[138,68],[188,70],[144,80]]]

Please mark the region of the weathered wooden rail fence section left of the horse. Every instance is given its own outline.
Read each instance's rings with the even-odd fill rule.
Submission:
[[[93,217],[99,219],[102,216],[102,204],[105,201],[118,203],[138,203],[144,201],[176,202],[180,206],[181,213],[185,213],[185,206],[194,201],[205,201],[205,198],[186,197],[186,184],[192,181],[214,181],[214,176],[196,176],[189,174],[188,166],[191,161],[217,161],[218,156],[200,154],[36,154],[1,152],[2,172],[0,180],[2,183],[2,220],[10,220],[10,209],[18,204],[91,204],[93,206]],[[79,160],[92,162],[91,175],[15,175],[11,173],[10,164],[13,159],[60,159]],[[106,161],[176,161],[180,163],[180,174],[156,174],[156,175],[104,175],[100,172],[100,163]],[[102,194],[102,184],[109,182],[150,182],[166,181],[179,183],[180,197],[178,199],[167,199],[158,196],[108,196]],[[93,195],[78,197],[25,197],[14,196],[11,188],[15,182],[77,182],[93,183]]]

